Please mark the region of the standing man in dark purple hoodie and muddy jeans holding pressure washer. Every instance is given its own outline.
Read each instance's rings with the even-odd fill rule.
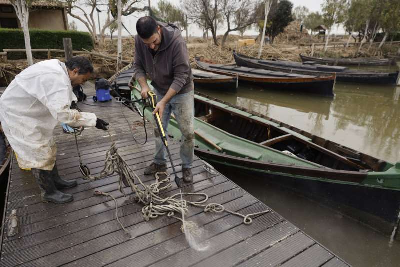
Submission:
[[[183,180],[191,182],[191,164],[194,155],[194,84],[189,64],[186,43],[180,29],[171,23],[157,22],[151,17],[142,17],[136,23],[135,78],[141,87],[141,96],[147,98],[150,88],[146,73],[157,95],[154,110],[162,116],[162,126],[167,130],[171,112],[182,133],[180,158]],[[165,146],[158,130],[154,129],[154,161],[144,174],[166,171]]]

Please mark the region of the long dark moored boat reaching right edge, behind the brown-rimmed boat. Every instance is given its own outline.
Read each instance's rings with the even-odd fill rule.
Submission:
[[[398,71],[387,73],[350,70],[342,66],[317,64],[315,61],[301,63],[285,60],[260,60],[236,52],[233,52],[233,56],[238,66],[320,76],[335,73],[336,81],[341,82],[395,84],[399,73]]]

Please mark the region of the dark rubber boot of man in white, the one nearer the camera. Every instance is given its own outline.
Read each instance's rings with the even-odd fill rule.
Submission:
[[[64,194],[55,188],[52,171],[32,169],[33,176],[41,190],[41,200],[43,202],[53,202],[57,204],[67,203],[73,200],[73,196]]]

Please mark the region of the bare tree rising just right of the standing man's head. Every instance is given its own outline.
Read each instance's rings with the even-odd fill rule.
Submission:
[[[185,0],[188,19],[196,23],[200,28],[211,31],[214,44],[218,46],[216,39],[216,27],[221,20],[221,0]]]

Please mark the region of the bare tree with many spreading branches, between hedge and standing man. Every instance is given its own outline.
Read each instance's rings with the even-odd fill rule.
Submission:
[[[66,0],[67,13],[73,18],[81,21],[89,31],[94,44],[99,46],[103,45],[105,30],[111,25],[111,23],[117,20],[118,8],[117,0],[109,0],[107,2],[101,2],[104,0]],[[137,11],[148,10],[148,7],[143,7],[142,0],[127,0],[122,2],[121,14],[122,16],[128,16]],[[82,8],[87,6],[90,8],[89,14]],[[96,8],[106,7],[107,9],[107,20],[101,28],[99,38],[97,38],[96,23],[94,19],[94,10]],[[82,12],[83,16],[78,15],[76,12]],[[109,12],[108,12],[109,11]],[[111,15],[111,16],[110,16]]]

